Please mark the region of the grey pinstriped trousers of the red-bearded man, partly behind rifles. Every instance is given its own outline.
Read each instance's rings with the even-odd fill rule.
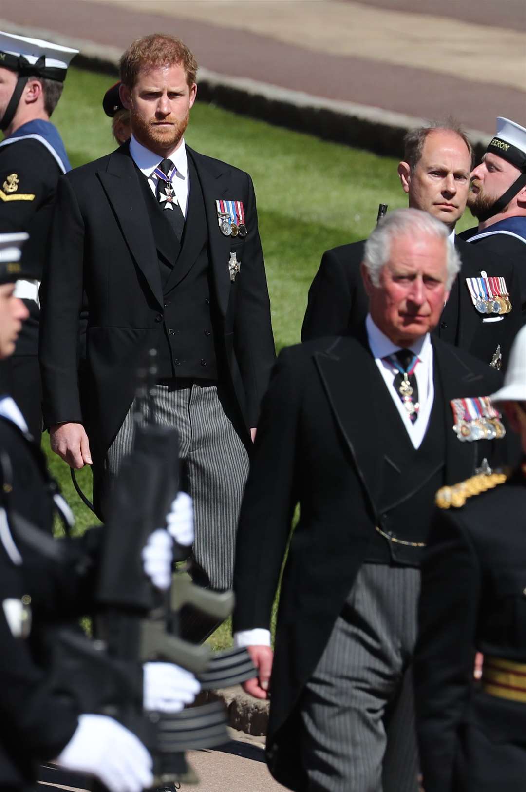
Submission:
[[[217,386],[211,381],[175,380],[170,385],[157,385],[153,400],[156,421],[175,426],[179,432],[184,482],[194,500],[197,579],[212,588],[230,588],[237,520],[248,476],[247,450],[226,417]],[[130,409],[108,449],[106,470],[110,479],[115,478],[121,461],[130,453],[133,440]]]

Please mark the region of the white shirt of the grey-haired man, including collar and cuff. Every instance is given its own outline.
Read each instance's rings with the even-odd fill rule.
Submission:
[[[418,402],[420,403],[420,409],[418,411],[418,418],[413,424],[411,423],[409,414],[403,408],[402,399],[399,397],[393,385],[395,375],[399,373],[398,369],[384,360],[384,357],[398,352],[402,347],[393,344],[393,342],[377,328],[370,314],[367,314],[367,318],[365,319],[365,328],[367,330],[369,348],[371,352],[373,352],[373,357],[380,371],[380,375],[382,375],[388,393],[391,395],[396,409],[398,409],[411,443],[415,448],[418,448],[426,435],[427,425],[430,422],[431,409],[433,408],[433,346],[431,345],[430,334],[426,333],[426,335],[416,341],[416,343],[404,347],[411,349],[411,352],[414,352],[414,354],[418,356],[418,363],[414,369],[414,375],[416,376],[418,384]],[[257,627],[255,630],[241,630],[238,633],[234,633],[234,645],[270,646],[270,630],[264,630],[261,627]]]

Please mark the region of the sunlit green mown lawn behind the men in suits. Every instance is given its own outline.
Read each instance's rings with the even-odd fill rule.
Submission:
[[[112,82],[107,75],[77,69],[68,73],[53,120],[74,167],[115,147],[101,105]],[[192,109],[185,138],[196,150],[232,162],[252,175],[276,345],[280,349],[297,343],[308,286],[324,250],[367,236],[380,202],[390,209],[407,205],[396,174],[397,161],[325,143],[199,101]],[[467,218],[463,227],[469,223]],[[48,448],[47,436],[44,444]],[[48,457],[74,506],[78,529],[84,530],[93,520],[74,493],[69,468],[49,451]],[[78,478],[89,491],[89,471],[81,471]],[[214,644],[228,643],[226,625],[214,636]]]

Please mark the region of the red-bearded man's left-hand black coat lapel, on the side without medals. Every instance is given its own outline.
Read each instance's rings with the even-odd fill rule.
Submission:
[[[105,171],[97,176],[108,196],[134,261],[141,269],[157,303],[162,307],[161,274],[157,248],[134,162],[125,144],[113,152]]]

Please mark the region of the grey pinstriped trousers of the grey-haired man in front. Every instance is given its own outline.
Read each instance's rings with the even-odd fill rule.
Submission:
[[[308,792],[417,792],[420,571],[364,564],[301,699]]]

